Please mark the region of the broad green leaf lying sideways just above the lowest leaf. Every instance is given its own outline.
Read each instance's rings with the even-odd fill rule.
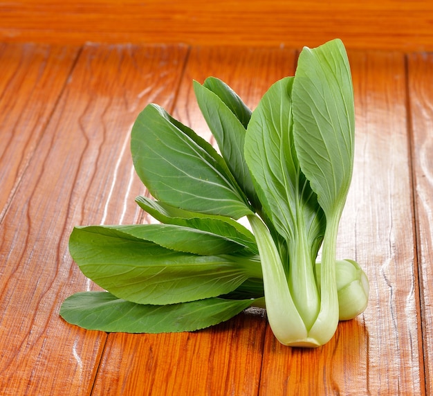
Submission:
[[[69,251],[85,276],[119,298],[172,304],[228,294],[261,278],[257,257],[192,255],[101,226],[75,227]]]

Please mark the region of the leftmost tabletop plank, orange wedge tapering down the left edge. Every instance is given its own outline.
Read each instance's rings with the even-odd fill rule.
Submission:
[[[78,49],[0,44],[0,221],[44,132]]]

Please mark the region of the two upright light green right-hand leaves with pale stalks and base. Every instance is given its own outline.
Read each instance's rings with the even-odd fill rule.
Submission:
[[[295,78],[269,89],[247,131],[246,161],[288,252],[285,260],[273,240],[260,244],[257,235],[265,231],[248,216],[262,258],[270,325],[286,345],[322,345],[339,320],[335,242],[353,168],[353,91],[342,43],[304,48]],[[322,240],[317,285],[314,263]],[[267,292],[275,285],[285,289],[284,298]]]

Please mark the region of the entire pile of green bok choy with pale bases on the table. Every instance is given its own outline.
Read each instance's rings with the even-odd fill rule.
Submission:
[[[342,42],[304,48],[295,76],[254,111],[214,77],[194,92],[221,154],[145,107],[131,154],[153,198],[136,202],[159,224],[75,227],[71,255],[107,291],[73,294],[60,315],[90,330],[158,333],[266,307],[281,343],[323,345],[339,320],[364,311],[369,292],[360,266],[335,257],[354,145]]]

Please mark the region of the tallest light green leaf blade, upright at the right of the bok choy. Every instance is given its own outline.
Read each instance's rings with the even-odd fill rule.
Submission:
[[[302,172],[326,217],[342,210],[351,183],[353,106],[351,71],[342,42],[335,39],[304,48],[293,83],[293,134]]]

